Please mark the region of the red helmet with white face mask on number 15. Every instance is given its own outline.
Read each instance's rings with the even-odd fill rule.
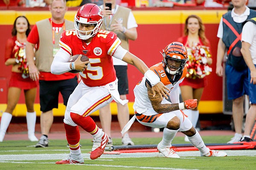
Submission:
[[[103,11],[99,6],[93,3],[87,3],[81,6],[76,15],[75,15],[75,29],[76,29],[76,36],[79,37],[81,40],[87,40],[90,37],[93,37],[99,32],[99,29],[102,25],[103,20]],[[80,31],[79,30],[79,23],[83,24],[93,24],[95,27],[93,30],[90,31]]]

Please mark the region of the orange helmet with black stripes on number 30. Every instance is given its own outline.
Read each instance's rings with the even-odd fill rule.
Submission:
[[[169,74],[180,74],[186,65],[187,58],[187,51],[185,46],[180,42],[172,42],[169,45],[167,45],[166,48],[163,50],[163,68]],[[176,62],[179,61],[180,66],[174,67],[172,65],[169,65],[168,59],[175,60]],[[170,68],[176,70],[172,71],[170,70]]]

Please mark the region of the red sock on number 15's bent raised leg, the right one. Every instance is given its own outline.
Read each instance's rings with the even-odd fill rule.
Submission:
[[[100,129],[90,116],[84,117],[76,113],[70,113],[70,117],[76,125],[81,126],[85,131],[90,133],[93,138],[99,138],[103,136],[103,131]]]

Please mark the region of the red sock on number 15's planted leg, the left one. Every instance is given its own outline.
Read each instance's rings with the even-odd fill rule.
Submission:
[[[80,132],[78,126],[71,126],[64,123],[67,143],[70,147],[70,153],[72,154],[80,154]]]

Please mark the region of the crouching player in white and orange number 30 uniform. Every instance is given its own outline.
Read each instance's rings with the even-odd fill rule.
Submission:
[[[135,118],[142,125],[164,128],[163,139],[157,145],[157,150],[168,158],[180,158],[172,147],[172,139],[178,131],[188,136],[189,142],[200,150],[202,156],[227,156],[227,153],[218,150],[209,150],[205,146],[200,134],[183,113],[183,109],[194,109],[197,99],[188,99],[180,103],[179,84],[186,77],[187,51],[180,42],[172,42],[163,51],[163,62],[153,65],[150,70],[160,77],[161,82],[169,91],[169,99],[161,94],[153,95],[151,83],[147,77],[134,88],[134,117],[125,125],[122,134],[127,131]]]

